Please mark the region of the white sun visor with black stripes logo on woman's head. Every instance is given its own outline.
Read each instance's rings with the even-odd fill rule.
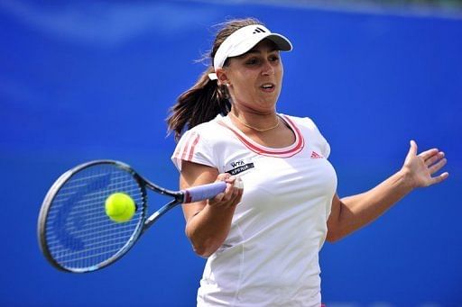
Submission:
[[[218,47],[217,53],[215,53],[213,59],[215,71],[217,71],[217,68],[223,68],[227,58],[245,54],[245,52],[254,48],[257,43],[264,39],[273,41],[279,50],[292,50],[291,41],[281,34],[272,33],[261,24],[247,25],[229,35],[226,40],[221,43],[220,47]],[[217,80],[216,73],[208,74],[208,77],[211,80]]]

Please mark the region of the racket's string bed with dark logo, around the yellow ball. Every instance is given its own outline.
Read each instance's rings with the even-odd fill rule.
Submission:
[[[130,221],[106,215],[106,198],[130,195],[137,210]],[[85,168],[61,186],[50,206],[45,229],[51,256],[73,270],[88,270],[115,257],[143,226],[143,188],[134,176],[114,165]]]

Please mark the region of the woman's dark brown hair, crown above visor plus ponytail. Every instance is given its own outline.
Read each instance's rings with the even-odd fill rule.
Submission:
[[[226,86],[218,86],[217,80],[210,80],[208,74],[215,71],[213,58],[223,41],[233,32],[252,24],[263,23],[254,18],[245,18],[218,24],[220,30],[208,56],[210,61],[208,68],[194,86],[178,97],[176,104],[170,109],[171,114],[167,118],[167,124],[169,133],[175,132],[175,140],[180,139],[185,128],[189,130],[199,123],[214,119],[219,113],[226,114],[231,109]]]

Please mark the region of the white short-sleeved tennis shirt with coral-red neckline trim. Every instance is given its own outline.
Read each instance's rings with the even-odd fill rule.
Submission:
[[[330,147],[309,118],[279,114],[295,133],[286,148],[259,145],[218,115],[187,131],[172,155],[240,176],[231,230],[208,257],[198,306],[319,307],[319,249],[337,176]]]

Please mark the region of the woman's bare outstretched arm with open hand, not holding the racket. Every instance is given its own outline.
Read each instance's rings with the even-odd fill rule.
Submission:
[[[365,193],[342,199],[334,195],[328,217],[327,240],[334,242],[342,239],[374,221],[413,189],[435,185],[448,178],[448,172],[432,176],[446,162],[444,153],[439,149],[429,149],[417,155],[417,144],[411,140],[411,149],[402,169],[396,174]]]

